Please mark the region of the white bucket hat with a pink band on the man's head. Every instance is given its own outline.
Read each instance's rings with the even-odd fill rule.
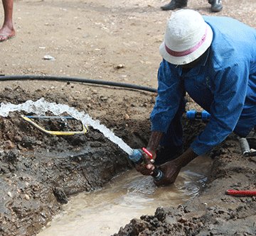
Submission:
[[[213,30],[197,11],[179,10],[171,15],[159,47],[161,56],[171,64],[188,64],[206,52]]]

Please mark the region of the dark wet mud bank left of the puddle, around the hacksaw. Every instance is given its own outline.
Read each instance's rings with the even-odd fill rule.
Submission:
[[[20,89],[6,89],[1,99],[21,103],[40,96],[40,92],[35,98]],[[46,135],[21,114],[33,116],[14,112],[0,117],[0,235],[36,235],[69,196],[98,189],[132,168],[127,154],[97,130],[90,128],[85,135]],[[82,129],[78,120],[68,120],[67,125],[58,119],[35,123],[46,130]]]

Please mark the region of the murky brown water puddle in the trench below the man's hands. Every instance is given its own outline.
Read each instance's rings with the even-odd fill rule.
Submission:
[[[196,197],[206,184],[211,164],[209,157],[198,157],[182,169],[175,184],[164,187],[156,187],[150,176],[132,169],[103,189],[71,197],[64,212],[38,236],[112,235],[132,218],[154,215],[159,206],[178,206]]]

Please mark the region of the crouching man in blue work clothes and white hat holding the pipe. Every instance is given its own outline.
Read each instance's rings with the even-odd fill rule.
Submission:
[[[151,137],[146,147],[153,159],[164,159],[156,185],[174,183],[181,168],[218,145],[232,132],[246,137],[256,125],[256,30],[233,18],[202,17],[193,10],[176,11],[169,19],[164,58],[158,73],[158,96],[151,112]],[[178,158],[182,145],[181,116],[185,93],[210,113],[210,120],[191,147]],[[156,152],[164,146],[163,154]],[[169,161],[169,162],[168,162]],[[144,154],[149,175],[154,169]]]

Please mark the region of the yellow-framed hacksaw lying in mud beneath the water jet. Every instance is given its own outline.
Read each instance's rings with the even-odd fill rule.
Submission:
[[[85,125],[82,125],[82,130],[81,131],[50,131],[50,130],[46,130],[44,128],[42,128],[40,125],[36,124],[33,122],[33,120],[31,120],[30,118],[46,118],[46,117],[41,117],[41,116],[29,116],[30,118],[28,118],[28,116],[23,116],[21,115],[21,117],[28,121],[28,123],[30,123],[31,125],[33,125],[34,127],[36,127],[38,130],[40,130],[43,133],[46,133],[48,135],[80,135],[80,134],[85,134],[88,133],[88,128],[85,127]],[[47,118],[56,118],[55,116],[50,117],[48,116]],[[61,118],[61,117],[58,117]]]

